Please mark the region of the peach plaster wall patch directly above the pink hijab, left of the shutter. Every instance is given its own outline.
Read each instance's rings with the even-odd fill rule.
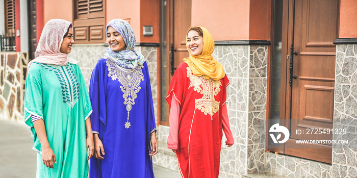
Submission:
[[[72,0],[43,1],[44,24],[50,19],[61,18],[73,22]]]

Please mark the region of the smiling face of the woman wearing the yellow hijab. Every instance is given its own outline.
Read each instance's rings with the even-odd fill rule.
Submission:
[[[203,50],[203,37],[198,35],[198,32],[191,30],[187,34],[187,48],[190,50],[192,56],[202,54]]]

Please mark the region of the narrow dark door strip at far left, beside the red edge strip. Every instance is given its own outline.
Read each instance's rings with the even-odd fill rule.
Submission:
[[[37,37],[36,37],[36,0],[29,0],[29,60],[35,58],[35,51],[37,47]]]

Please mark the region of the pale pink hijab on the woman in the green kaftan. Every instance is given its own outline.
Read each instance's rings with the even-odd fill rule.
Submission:
[[[77,64],[77,61],[67,57],[68,54],[60,52],[63,36],[71,24],[63,19],[52,19],[45,24],[37,44],[35,59],[29,62],[28,68],[33,62],[60,66],[67,65],[68,62]]]

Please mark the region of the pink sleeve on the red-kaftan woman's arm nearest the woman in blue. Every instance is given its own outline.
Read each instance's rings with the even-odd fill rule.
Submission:
[[[171,100],[171,109],[169,116],[169,136],[167,138],[167,148],[177,149],[178,134],[179,134],[179,116],[180,116],[180,104],[176,99]]]

